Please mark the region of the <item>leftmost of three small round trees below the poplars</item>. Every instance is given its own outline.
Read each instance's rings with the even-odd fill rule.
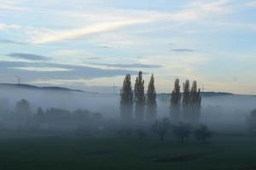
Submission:
[[[164,141],[166,133],[168,133],[170,127],[170,120],[164,117],[161,121],[154,122],[152,130],[160,136],[161,141]]]

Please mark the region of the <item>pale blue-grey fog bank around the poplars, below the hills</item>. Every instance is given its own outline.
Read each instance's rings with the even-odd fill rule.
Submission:
[[[0,88],[1,120],[3,113],[15,111],[17,102],[26,99],[31,114],[36,114],[38,107],[43,111],[57,108],[70,112],[86,110],[101,113],[105,121],[119,121],[119,94],[98,94],[60,89],[38,88]],[[157,119],[170,116],[170,95],[157,96]],[[256,96],[216,94],[202,96],[201,116],[198,122],[207,124],[213,130],[226,132],[244,132],[247,129],[247,116],[256,108]],[[6,114],[5,114],[6,115]]]

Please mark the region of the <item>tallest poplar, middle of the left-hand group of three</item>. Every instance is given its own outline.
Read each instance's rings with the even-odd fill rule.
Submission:
[[[143,121],[144,110],[145,110],[145,94],[144,94],[144,80],[143,71],[139,71],[138,77],[136,78],[134,86],[135,95],[135,116],[137,121]]]

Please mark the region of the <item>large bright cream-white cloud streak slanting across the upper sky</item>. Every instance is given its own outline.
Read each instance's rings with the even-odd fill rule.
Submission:
[[[196,1],[185,5],[183,9],[174,13],[143,9],[116,8],[89,8],[86,12],[79,12],[77,10],[49,10],[49,13],[57,15],[56,19],[60,22],[64,22],[62,18],[65,18],[67,20],[72,20],[72,22],[75,20],[76,24],[73,25],[73,28],[65,30],[30,27],[26,29],[26,34],[30,37],[32,44],[38,45],[50,42],[81,39],[89,35],[113,31],[126,26],[156,22],[159,20],[172,22],[169,23],[172,25],[177,23],[183,24],[184,22],[202,20],[215,14],[223,14],[228,11],[226,4],[229,2],[230,0],[218,0],[211,3]],[[60,16],[62,17],[58,18]],[[70,25],[67,26],[70,27]]]

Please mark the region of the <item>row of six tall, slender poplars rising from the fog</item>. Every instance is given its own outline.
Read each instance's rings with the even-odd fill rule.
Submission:
[[[120,116],[125,122],[132,120],[133,104],[135,103],[135,118],[142,122],[144,114],[148,122],[153,122],[157,115],[156,91],[154,88],[154,75],[148,82],[147,94],[144,92],[143,72],[139,71],[134,84],[131,85],[131,75],[126,75],[123,87],[120,90]],[[189,80],[183,83],[183,94],[179,79],[174,82],[170,102],[170,116],[172,121],[195,122],[199,119],[201,110],[201,89],[194,81],[190,88]]]

